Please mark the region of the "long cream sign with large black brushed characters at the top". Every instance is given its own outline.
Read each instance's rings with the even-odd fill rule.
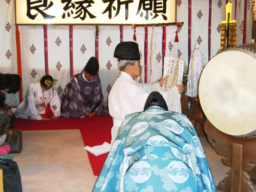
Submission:
[[[18,25],[176,22],[175,0],[16,0]]]

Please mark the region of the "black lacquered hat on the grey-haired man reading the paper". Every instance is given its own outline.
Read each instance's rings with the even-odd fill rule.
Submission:
[[[140,60],[139,46],[132,41],[121,42],[115,48],[114,57],[121,60]]]

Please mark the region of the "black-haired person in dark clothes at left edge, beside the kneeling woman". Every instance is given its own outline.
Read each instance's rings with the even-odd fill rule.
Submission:
[[[1,74],[0,73],[0,108],[5,110],[10,116],[8,129],[13,129],[15,115],[12,113],[11,107],[5,103],[6,93],[15,94],[20,90],[21,78],[18,74]]]

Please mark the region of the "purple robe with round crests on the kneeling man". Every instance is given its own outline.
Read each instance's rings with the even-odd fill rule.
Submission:
[[[84,117],[85,112],[91,112],[99,102],[95,111],[97,115],[102,114],[104,107],[99,76],[96,75],[92,82],[84,80],[82,73],[76,74],[74,78],[66,85],[61,95],[61,116]]]

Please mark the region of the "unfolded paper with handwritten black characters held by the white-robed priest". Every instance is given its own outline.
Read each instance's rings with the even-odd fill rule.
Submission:
[[[170,90],[174,85],[182,84],[184,60],[174,57],[164,57],[164,74],[167,79],[164,81],[162,91]]]

